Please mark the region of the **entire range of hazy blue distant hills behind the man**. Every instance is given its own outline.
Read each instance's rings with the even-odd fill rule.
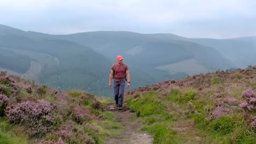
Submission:
[[[234,45],[235,51],[230,49]],[[2,68],[60,89],[83,89],[108,96],[113,93],[107,86],[110,65],[117,55],[129,64],[131,88],[195,73],[247,67],[254,62],[251,42],[189,39],[174,34],[100,31],[50,35],[0,25],[0,46],[27,57],[22,64],[31,63],[30,68],[20,71],[6,64],[1,64]],[[244,46],[246,50],[238,51]],[[245,54],[247,57],[240,55],[246,51],[251,52]]]

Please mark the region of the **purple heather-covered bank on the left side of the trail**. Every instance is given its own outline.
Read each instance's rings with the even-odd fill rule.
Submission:
[[[102,143],[103,111],[93,94],[0,74],[0,143]]]

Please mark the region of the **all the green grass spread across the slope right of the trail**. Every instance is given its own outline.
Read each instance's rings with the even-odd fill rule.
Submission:
[[[230,115],[208,121],[210,115],[207,106],[214,106],[210,95],[222,91],[224,97],[239,98],[244,87],[231,86],[231,92],[223,89],[219,78],[213,79],[212,91],[199,93],[193,88],[171,88],[165,97],[150,91],[144,95],[136,94],[127,99],[131,111],[137,113],[137,120],[145,125],[141,130],[154,136],[153,143],[256,143],[255,129],[248,128],[242,115]],[[187,104],[191,102],[200,113],[189,113]],[[237,104],[238,105],[238,104]],[[194,128],[184,132],[173,130],[173,125],[187,127],[194,123]],[[237,131],[240,130],[240,131]]]

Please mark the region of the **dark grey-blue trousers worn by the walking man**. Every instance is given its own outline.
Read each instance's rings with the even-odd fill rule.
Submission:
[[[114,81],[115,101],[117,101],[118,105],[120,105],[120,106],[123,106],[124,88],[125,88],[125,80],[123,80],[123,81]]]

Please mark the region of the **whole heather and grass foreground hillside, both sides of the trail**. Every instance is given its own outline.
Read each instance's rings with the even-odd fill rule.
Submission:
[[[0,93],[0,143],[256,142],[256,66],[132,89],[124,111],[4,72]]]

